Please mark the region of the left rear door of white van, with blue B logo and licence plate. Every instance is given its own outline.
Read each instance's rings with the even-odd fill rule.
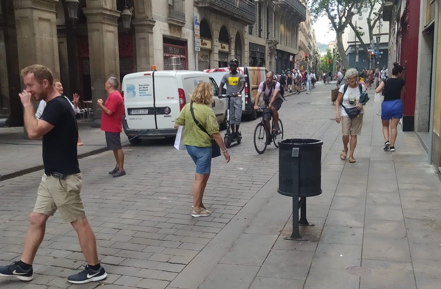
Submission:
[[[157,128],[152,74],[141,72],[124,76],[122,90],[128,128]]]

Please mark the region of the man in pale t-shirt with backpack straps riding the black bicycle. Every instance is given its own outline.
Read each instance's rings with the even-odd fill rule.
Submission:
[[[265,101],[265,107],[267,108],[263,111],[263,119],[265,120],[266,128],[269,132],[271,129],[269,120],[271,119],[272,114],[274,118],[273,131],[279,131],[279,113],[277,111],[280,109],[283,102],[283,99],[280,95],[280,83],[273,80],[274,74],[271,71],[266,74],[265,79],[265,81],[262,81],[262,83],[260,83],[256,97],[254,98],[254,109],[259,109],[259,99],[260,95],[263,92],[263,101]],[[266,143],[271,144],[271,140],[267,139]]]

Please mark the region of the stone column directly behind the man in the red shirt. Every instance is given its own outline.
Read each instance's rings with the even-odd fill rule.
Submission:
[[[101,7],[101,2],[107,7]],[[120,55],[118,51],[118,19],[116,1],[91,1],[83,8],[87,18],[89,40],[90,83],[92,86],[93,127],[101,125],[101,109],[97,100],[107,98],[104,89],[109,76],[120,78]]]

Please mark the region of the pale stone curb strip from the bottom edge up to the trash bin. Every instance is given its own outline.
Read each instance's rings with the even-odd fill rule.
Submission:
[[[198,288],[271,197],[277,194],[278,181],[277,172],[168,286],[180,289]]]

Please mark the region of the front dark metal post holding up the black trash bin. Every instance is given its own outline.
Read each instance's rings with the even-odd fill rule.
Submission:
[[[284,237],[285,240],[299,240],[307,241],[308,239],[302,238],[299,232],[299,191],[300,191],[300,158],[299,158],[300,148],[292,149],[292,234],[289,237]],[[306,207],[305,207],[306,214]]]

